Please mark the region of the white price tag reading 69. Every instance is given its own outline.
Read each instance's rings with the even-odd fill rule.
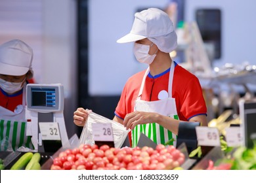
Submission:
[[[221,146],[219,130],[216,127],[196,127],[198,146]]]

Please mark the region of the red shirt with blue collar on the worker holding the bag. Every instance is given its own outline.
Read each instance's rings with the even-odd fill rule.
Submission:
[[[167,71],[156,76],[148,74],[141,95],[142,100],[157,101],[158,93],[161,90],[168,92],[169,71],[170,69],[167,69]],[[145,71],[141,71],[127,80],[115,111],[116,116],[119,118],[124,119],[126,114],[133,112],[144,73]],[[177,65],[177,63],[175,63],[172,90],[172,97],[175,98],[179,120],[188,121],[194,116],[207,114],[198,78],[180,65]]]

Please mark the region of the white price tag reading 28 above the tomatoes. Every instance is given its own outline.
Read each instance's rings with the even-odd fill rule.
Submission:
[[[111,124],[96,123],[92,128],[94,141],[114,141]]]

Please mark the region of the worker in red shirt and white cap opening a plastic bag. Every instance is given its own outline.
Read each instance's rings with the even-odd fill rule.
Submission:
[[[169,55],[177,48],[177,35],[165,12],[148,8],[135,13],[131,32],[117,42],[135,42],[135,57],[148,65],[146,71],[127,80],[114,116],[116,122],[132,130],[133,147],[140,133],[156,144],[165,144],[177,139],[179,122],[207,126],[207,108],[198,78]],[[87,116],[84,108],[77,108],[74,123],[83,126]]]

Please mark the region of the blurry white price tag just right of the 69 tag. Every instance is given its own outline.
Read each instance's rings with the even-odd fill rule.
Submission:
[[[242,145],[242,135],[240,127],[228,127],[226,128],[226,143],[230,147],[236,147]]]

